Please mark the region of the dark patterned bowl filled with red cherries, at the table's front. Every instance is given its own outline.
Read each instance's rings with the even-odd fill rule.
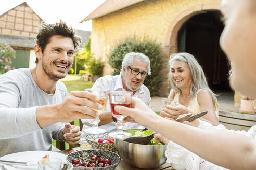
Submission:
[[[108,150],[80,150],[67,156],[67,162],[74,166],[74,169],[97,169],[112,170],[117,167],[121,158],[117,153]]]

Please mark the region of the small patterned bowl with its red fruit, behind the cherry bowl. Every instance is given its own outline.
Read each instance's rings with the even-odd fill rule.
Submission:
[[[110,138],[108,133],[88,134],[86,137],[87,143],[92,145],[92,149],[103,149],[116,151],[114,146],[114,138]]]

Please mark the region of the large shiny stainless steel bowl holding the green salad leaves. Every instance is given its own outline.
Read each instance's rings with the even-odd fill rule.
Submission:
[[[166,161],[166,145],[139,145],[120,139],[115,139],[114,145],[125,162],[138,168],[157,168]]]

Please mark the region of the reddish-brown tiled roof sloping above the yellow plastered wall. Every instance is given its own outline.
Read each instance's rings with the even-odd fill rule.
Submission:
[[[123,9],[125,7],[131,6],[133,4],[136,4],[142,1],[144,0],[106,0],[103,4],[101,4],[98,8],[96,8],[80,23],[91,20],[91,19],[95,19],[101,16],[105,16],[111,12],[118,11],[120,9]]]

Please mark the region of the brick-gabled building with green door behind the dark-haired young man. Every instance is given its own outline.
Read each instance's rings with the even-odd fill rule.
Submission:
[[[16,51],[16,58],[12,59],[12,67],[33,68],[35,66],[34,45],[41,19],[24,2],[0,15],[0,44],[8,43]],[[75,30],[80,36],[81,49],[89,40],[90,31]],[[75,63],[75,62],[74,62]]]

